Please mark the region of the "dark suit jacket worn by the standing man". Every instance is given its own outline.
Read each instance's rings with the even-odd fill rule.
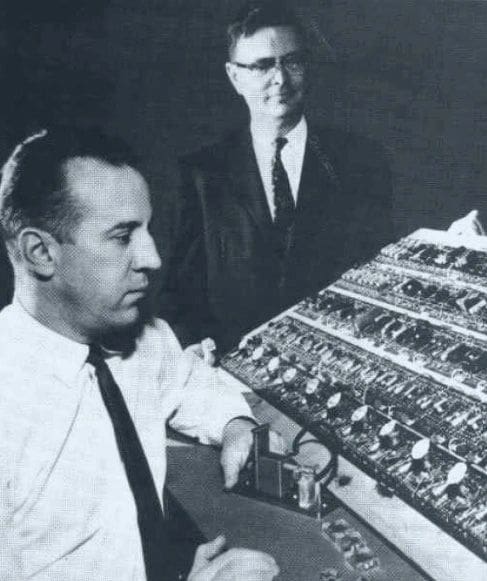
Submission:
[[[183,158],[162,315],[183,343],[241,335],[391,240],[391,183],[377,144],[308,129],[291,245],[279,269],[250,133]]]

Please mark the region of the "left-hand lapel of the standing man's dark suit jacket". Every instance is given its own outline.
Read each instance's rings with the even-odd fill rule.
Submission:
[[[269,231],[272,226],[272,217],[250,132],[243,132],[239,138],[237,146],[229,152],[229,174],[233,183],[232,195],[264,232]]]

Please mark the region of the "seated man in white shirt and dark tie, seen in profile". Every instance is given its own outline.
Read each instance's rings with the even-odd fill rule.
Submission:
[[[143,317],[160,259],[136,168],[117,140],[52,130],[3,169],[0,225],[15,276],[0,313],[5,581],[182,578],[165,567],[171,549],[143,532],[165,534],[166,421],[222,444],[228,487],[250,448],[245,401],[183,353],[166,323]],[[189,581],[277,574],[270,556],[223,553],[224,543],[198,548]]]

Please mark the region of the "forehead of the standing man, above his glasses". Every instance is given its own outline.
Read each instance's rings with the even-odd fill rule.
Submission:
[[[282,56],[302,48],[299,36],[292,26],[259,28],[250,36],[241,36],[235,46],[234,59],[260,59]]]

